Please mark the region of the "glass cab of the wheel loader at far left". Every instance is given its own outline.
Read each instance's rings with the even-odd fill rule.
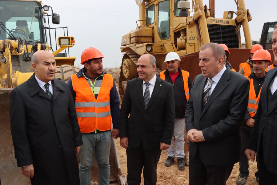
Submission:
[[[0,0],[0,39],[20,37],[44,43],[41,5],[36,1]]]

